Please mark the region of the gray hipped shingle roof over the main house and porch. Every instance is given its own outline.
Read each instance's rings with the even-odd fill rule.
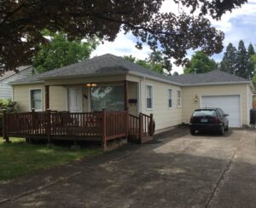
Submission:
[[[165,79],[168,82],[172,82],[167,76],[160,73],[153,72],[143,66],[139,66],[131,61],[126,61],[124,58],[106,54],[96,56],[90,60],[80,61],[69,66],[56,68],[49,72],[44,72],[30,78],[23,78],[17,80],[16,83],[30,83],[38,82],[44,79],[51,78],[67,78],[67,77],[83,77],[95,74],[112,74],[112,73],[129,73],[137,72],[143,75],[152,76],[154,78]]]

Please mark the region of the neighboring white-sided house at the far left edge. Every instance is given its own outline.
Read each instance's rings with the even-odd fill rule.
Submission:
[[[0,76],[0,99],[13,99],[13,87],[9,83],[32,76],[32,69],[32,66],[20,66],[17,72],[9,71]]]

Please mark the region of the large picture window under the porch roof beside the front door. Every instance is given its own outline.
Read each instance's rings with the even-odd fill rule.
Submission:
[[[123,111],[124,87],[108,86],[91,88],[91,109],[102,111],[106,108],[108,111]]]

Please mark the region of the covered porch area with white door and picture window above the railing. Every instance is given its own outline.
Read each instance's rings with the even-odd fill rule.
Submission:
[[[139,100],[139,83],[119,78],[50,80],[44,85],[44,110],[91,113],[105,108],[137,116]]]

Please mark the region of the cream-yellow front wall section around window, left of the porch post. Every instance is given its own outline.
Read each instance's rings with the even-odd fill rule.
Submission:
[[[42,89],[42,102],[44,107],[44,84],[24,84],[14,86],[14,101],[18,102],[20,112],[29,112],[30,109],[30,90]]]

